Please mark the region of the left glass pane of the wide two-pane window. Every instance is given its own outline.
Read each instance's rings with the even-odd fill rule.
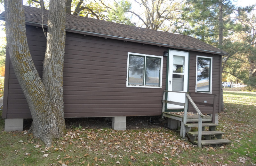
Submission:
[[[129,57],[128,84],[143,85],[144,57]]]

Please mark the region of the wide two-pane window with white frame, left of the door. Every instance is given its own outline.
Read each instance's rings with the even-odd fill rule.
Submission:
[[[162,87],[163,57],[128,52],[126,87]]]

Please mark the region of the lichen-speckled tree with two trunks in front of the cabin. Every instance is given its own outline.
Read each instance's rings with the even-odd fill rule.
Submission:
[[[63,105],[63,100],[58,102],[55,100],[61,100],[62,93],[60,86],[62,86],[61,72],[65,47],[66,1],[51,0],[49,3],[48,25],[50,26],[43,71],[44,82],[49,82],[46,86],[40,79],[29,52],[22,0],[5,0],[4,4],[6,48],[33,118],[30,131],[40,138],[46,147],[50,147],[53,138],[63,136],[65,133],[63,109],[58,108]],[[46,65],[54,67],[54,71],[50,68],[46,69]],[[58,90],[59,93],[53,94]]]

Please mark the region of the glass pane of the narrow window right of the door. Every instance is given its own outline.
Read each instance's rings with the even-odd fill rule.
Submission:
[[[208,58],[197,58],[197,91],[210,92],[210,62]]]

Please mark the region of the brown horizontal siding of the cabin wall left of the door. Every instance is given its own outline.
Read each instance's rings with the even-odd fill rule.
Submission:
[[[40,76],[46,38],[42,28],[27,26],[28,44]],[[63,72],[65,117],[161,115],[162,88],[126,87],[127,52],[163,56],[163,47],[82,34],[66,34]],[[10,65],[7,118],[30,118],[24,94]]]

